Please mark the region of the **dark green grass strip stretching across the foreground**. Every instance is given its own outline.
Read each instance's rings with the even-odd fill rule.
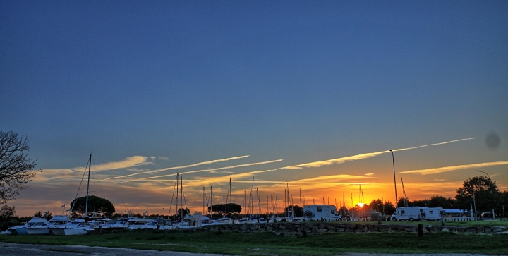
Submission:
[[[338,255],[373,253],[481,253],[508,254],[507,235],[462,233],[324,233],[313,236],[277,236],[271,232],[130,231],[92,236],[0,236],[4,243],[90,245],[229,255]],[[1,246],[1,245],[0,245]]]

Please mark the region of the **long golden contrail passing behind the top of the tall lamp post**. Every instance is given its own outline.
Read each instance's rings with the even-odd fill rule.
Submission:
[[[413,149],[417,149],[417,148],[420,148],[420,147],[429,147],[429,146],[435,146],[435,145],[443,145],[443,144],[448,144],[448,143],[452,143],[452,142],[459,142],[459,141],[462,141],[462,140],[473,140],[473,139],[476,139],[476,138],[466,138],[466,139],[460,139],[460,140],[450,140],[450,141],[447,141],[447,142],[433,143],[433,144],[422,145],[422,146],[418,146],[418,147],[407,147],[407,148],[401,148],[401,149],[392,150],[392,151],[413,150]],[[286,166],[286,167],[282,167],[281,169],[302,169],[304,167],[310,168],[310,167],[327,166],[327,165],[331,165],[331,164],[342,164],[342,163],[344,163],[346,161],[356,161],[356,160],[361,160],[361,159],[367,159],[367,158],[370,158],[370,157],[377,157],[378,155],[385,154],[387,152],[389,152],[389,151],[386,150],[386,151],[380,151],[380,152],[356,154],[356,155],[350,156],[350,157],[341,157],[341,158],[337,158],[337,159],[330,159],[330,160],[324,160],[324,161],[314,161],[314,162],[307,163],[307,164],[298,164],[298,165],[294,165],[294,166]]]

